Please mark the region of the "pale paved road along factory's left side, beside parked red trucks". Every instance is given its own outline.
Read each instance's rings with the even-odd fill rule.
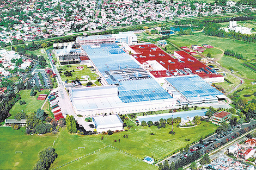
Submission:
[[[66,117],[66,115],[73,115],[74,118],[76,119],[77,116],[75,114],[74,108],[73,108],[72,103],[70,101],[68,92],[65,90],[65,86],[64,86],[64,83],[62,81],[62,78],[60,77],[56,66],[53,65],[52,59],[50,57],[50,49],[47,49],[46,53],[48,55],[48,58],[50,59],[50,64],[52,66],[52,70],[57,75],[56,80],[58,82],[58,88],[56,90],[59,90],[58,99],[59,99],[59,107],[62,110],[62,114],[63,114],[64,117]]]

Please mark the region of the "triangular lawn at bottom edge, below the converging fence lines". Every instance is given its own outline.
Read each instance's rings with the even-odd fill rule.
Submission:
[[[106,148],[59,169],[157,169],[113,148]]]

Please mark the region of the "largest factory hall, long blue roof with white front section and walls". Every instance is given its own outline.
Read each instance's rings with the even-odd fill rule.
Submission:
[[[103,86],[70,89],[70,99],[77,114],[129,114],[166,110],[176,105],[176,99],[117,44],[82,48],[100,75]]]

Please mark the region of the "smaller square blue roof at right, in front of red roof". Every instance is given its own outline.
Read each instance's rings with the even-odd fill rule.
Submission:
[[[212,98],[223,95],[196,74],[171,77],[166,80],[186,98]]]

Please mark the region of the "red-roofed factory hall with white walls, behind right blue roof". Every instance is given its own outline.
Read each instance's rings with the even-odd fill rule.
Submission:
[[[197,74],[208,83],[224,82],[224,77],[185,51],[171,56],[154,44],[130,46],[132,56],[157,82],[177,75]]]

